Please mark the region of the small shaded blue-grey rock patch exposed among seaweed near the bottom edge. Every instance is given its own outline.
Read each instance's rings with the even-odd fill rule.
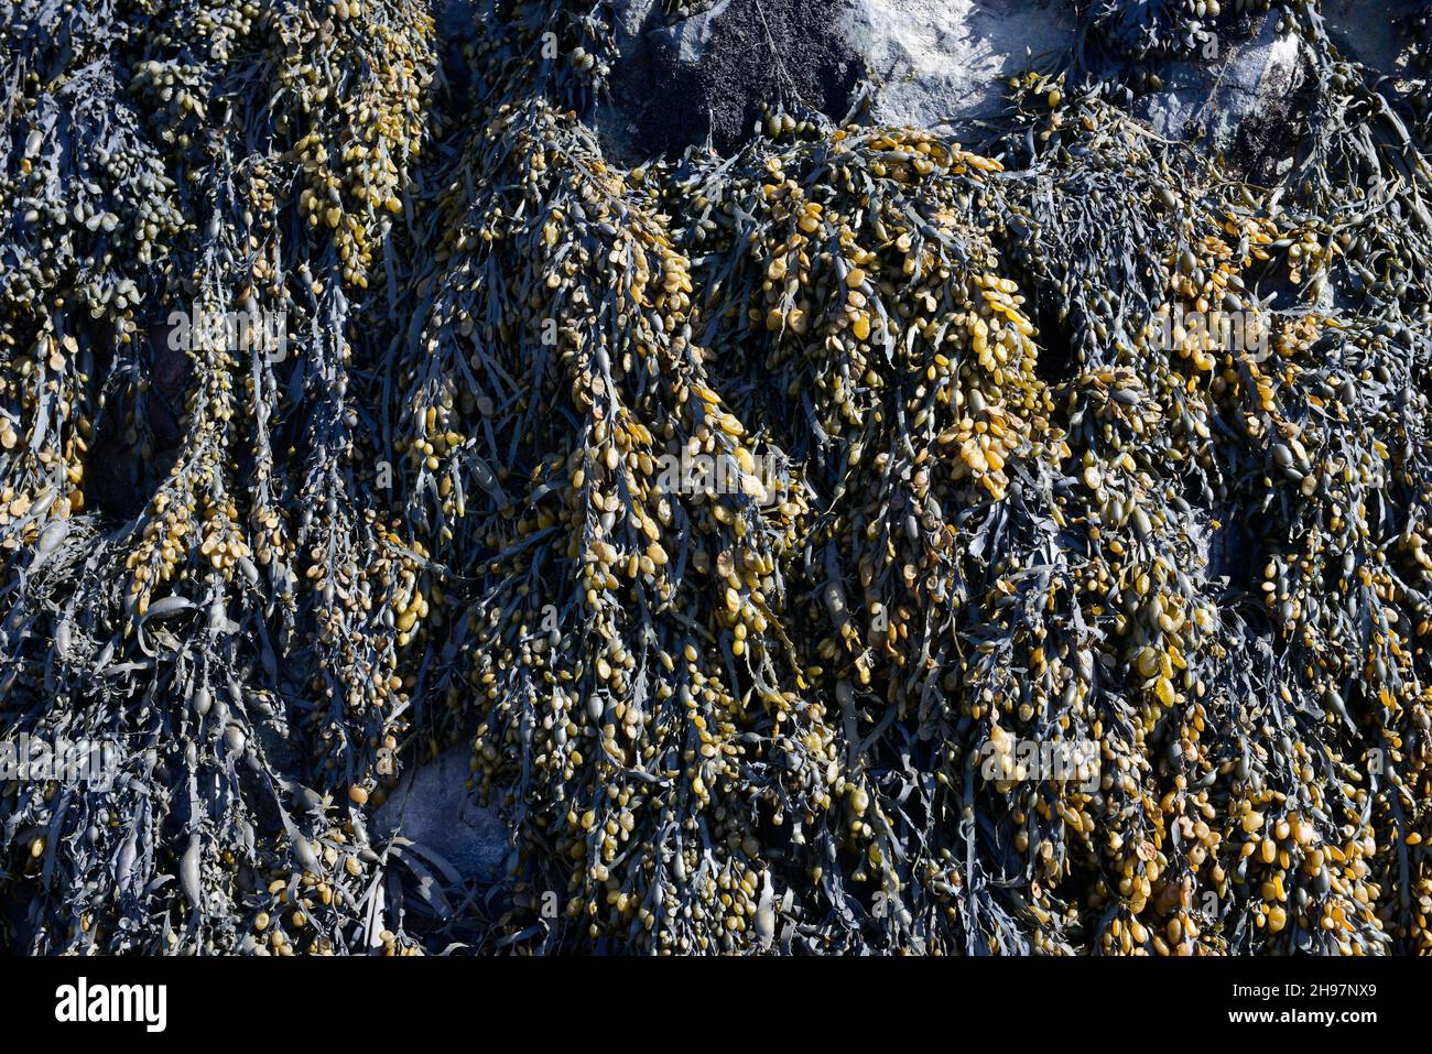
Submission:
[[[402,835],[440,854],[465,878],[494,882],[508,852],[507,825],[467,790],[473,750],[460,745],[410,769],[374,816],[374,833]]]

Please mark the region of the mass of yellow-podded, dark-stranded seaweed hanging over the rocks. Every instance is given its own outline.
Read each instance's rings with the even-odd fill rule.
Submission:
[[[1136,122],[1237,7],[637,168],[601,3],[6,9],[0,729],[117,763],[0,796],[30,945],[1432,947],[1432,173],[1307,4],[1274,185]],[[292,347],[163,464],[176,308]],[[461,740],[495,891],[368,833]]]

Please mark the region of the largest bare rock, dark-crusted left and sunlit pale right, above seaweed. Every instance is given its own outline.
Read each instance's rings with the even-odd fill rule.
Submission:
[[[833,120],[861,77],[871,116],[938,126],[990,116],[998,77],[1074,42],[1064,0],[717,0],[670,26],[660,6],[614,7],[620,57],[604,137],[619,155],[743,140],[762,103]]]

